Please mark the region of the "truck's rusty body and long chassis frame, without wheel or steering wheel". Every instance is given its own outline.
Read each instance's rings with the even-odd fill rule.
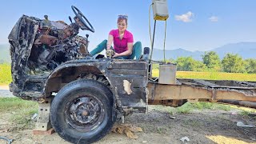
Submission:
[[[177,84],[162,85],[149,78],[148,59],[110,59],[100,54],[90,57],[86,49],[89,41],[78,36],[78,29],[76,23],[46,22],[26,15],[18,20],[9,35],[10,90],[15,96],[41,101],[54,97],[67,83],[86,78],[108,86],[122,114],[145,112],[147,104],[256,102],[255,82],[177,79]]]

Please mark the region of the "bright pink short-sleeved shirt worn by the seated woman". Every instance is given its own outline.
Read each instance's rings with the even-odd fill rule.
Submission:
[[[110,35],[113,35],[114,51],[118,54],[128,50],[127,43],[134,42],[134,36],[130,31],[126,30],[122,39],[119,38],[119,32],[117,30],[111,30]]]

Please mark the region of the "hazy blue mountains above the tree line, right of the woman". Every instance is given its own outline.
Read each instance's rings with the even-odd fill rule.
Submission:
[[[239,42],[227,44],[213,50],[215,51],[219,58],[223,58],[227,53],[231,54],[239,54],[242,58],[256,58],[256,42]],[[204,51],[189,51],[184,49],[175,49],[175,50],[166,50],[166,59],[176,59],[178,57],[192,57],[196,60],[202,61],[202,54]],[[153,59],[154,60],[162,60],[163,59],[163,50],[154,49],[153,51]]]

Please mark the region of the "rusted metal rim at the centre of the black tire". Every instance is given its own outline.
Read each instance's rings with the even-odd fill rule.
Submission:
[[[78,96],[66,104],[66,122],[75,130],[91,131],[102,123],[104,111],[103,104],[98,98]]]

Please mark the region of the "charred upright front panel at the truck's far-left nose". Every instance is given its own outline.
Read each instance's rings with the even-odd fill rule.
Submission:
[[[26,23],[26,24],[25,24]],[[34,18],[22,16],[11,30],[8,39],[10,42],[10,55],[12,59],[12,79],[11,90],[18,93],[23,89],[24,81],[27,77],[26,65],[33,46],[38,22]],[[30,31],[30,33],[28,33]]]

